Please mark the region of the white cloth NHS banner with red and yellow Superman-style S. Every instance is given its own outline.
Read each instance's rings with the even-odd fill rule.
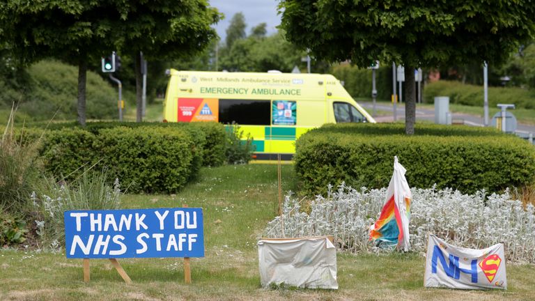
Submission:
[[[467,249],[429,235],[424,286],[507,289],[504,245]]]

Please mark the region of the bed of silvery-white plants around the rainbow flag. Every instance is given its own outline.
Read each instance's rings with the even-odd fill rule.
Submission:
[[[342,183],[329,185],[327,196],[316,196],[307,212],[302,201],[286,195],[282,215],[265,229],[266,237],[334,236],[341,252],[380,252],[369,238],[378,218],[386,189],[355,190]],[[535,263],[535,208],[523,205],[506,190],[503,194],[479,191],[413,188],[410,243],[412,251],[424,252],[426,234],[433,233],[459,247],[482,249],[502,242],[508,260]]]

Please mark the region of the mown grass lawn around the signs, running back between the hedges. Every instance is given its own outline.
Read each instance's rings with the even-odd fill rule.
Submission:
[[[293,167],[282,167],[283,190],[295,190]],[[256,240],[277,210],[277,166],[249,164],[202,169],[176,195],[126,195],[124,208],[203,207],[204,258],[192,258],[184,284],[182,258],[122,259],[125,284],[107,260],[65,254],[0,251],[0,300],[534,300],[535,266],[507,265],[508,291],[423,287],[421,254],[339,254],[339,290],[260,287]]]

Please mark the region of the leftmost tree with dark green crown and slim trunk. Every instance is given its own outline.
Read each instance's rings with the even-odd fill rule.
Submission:
[[[121,9],[105,0],[7,0],[0,3],[4,51],[20,65],[45,57],[78,65],[78,122],[86,123],[88,59],[111,52]]]

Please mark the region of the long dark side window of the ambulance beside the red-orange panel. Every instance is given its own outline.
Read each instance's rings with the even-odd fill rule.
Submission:
[[[219,100],[219,122],[270,125],[270,100]]]

